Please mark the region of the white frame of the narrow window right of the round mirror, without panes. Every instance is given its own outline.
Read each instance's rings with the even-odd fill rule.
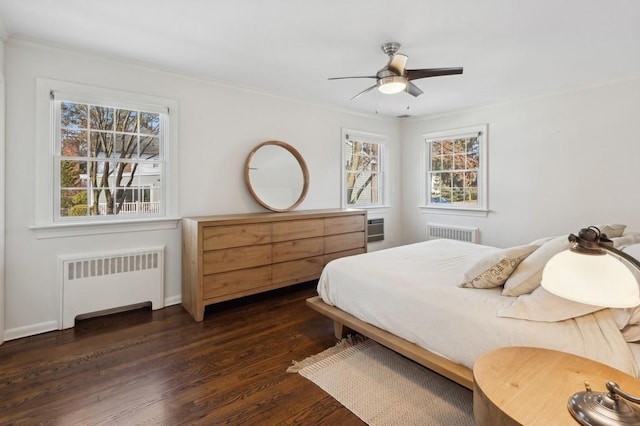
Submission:
[[[346,161],[346,141],[348,139],[356,139],[366,143],[375,143],[379,145],[378,155],[380,157],[380,163],[378,165],[378,176],[379,176],[379,201],[377,203],[361,203],[361,204],[349,204],[347,199],[347,171],[345,170],[345,161]],[[341,170],[341,185],[342,185],[342,207],[343,208],[355,208],[355,209],[381,209],[388,208],[386,200],[387,196],[387,188],[389,187],[387,183],[389,170],[389,150],[388,150],[389,138],[387,135],[379,134],[379,133],[371,133],[371,132],[363,132],[361,130],[354,129],[342,129],[342,137],[340,138],[340,146],[341,146],[341,158],[340,158],[340,170]]]

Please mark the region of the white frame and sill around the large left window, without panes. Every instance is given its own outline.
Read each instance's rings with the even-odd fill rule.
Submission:
[[[159,215],[109,215],[60,220],[59,211],[56,211],[60,194],[57,186],[59,159],[56,151],[59,123],[53,94],[58,99],[79,103],[136,108],[149,112],[168,112],[163,129],[165,132],[164,174],[161,179],[164,206]],[[178,225],[178,102],[176,100],[37,78],[35,162],[36,212],[35,224],[31,229],[36,231],[37,238],[170,229]]]

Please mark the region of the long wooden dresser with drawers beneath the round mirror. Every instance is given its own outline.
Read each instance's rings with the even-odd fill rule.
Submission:
[[[367,251],[366,225],[364,210],[183,218],[182,306],[202,321],[212,303],[317,279]]]

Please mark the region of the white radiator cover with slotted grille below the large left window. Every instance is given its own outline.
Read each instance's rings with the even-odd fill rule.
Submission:
[[[58,256],[60,329],[78,315],[151,302],[164,305],[164,247]]]

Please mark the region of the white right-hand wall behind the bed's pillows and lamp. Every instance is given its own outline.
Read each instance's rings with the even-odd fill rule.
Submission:
[[[483,244],[507,247],[588,225],[640,231],[640,79],[459,111],[403,126],[405,243],[427,222],[477,226]],[[431,131],[488,123],[486,218],[425,214],[424,142]]]

